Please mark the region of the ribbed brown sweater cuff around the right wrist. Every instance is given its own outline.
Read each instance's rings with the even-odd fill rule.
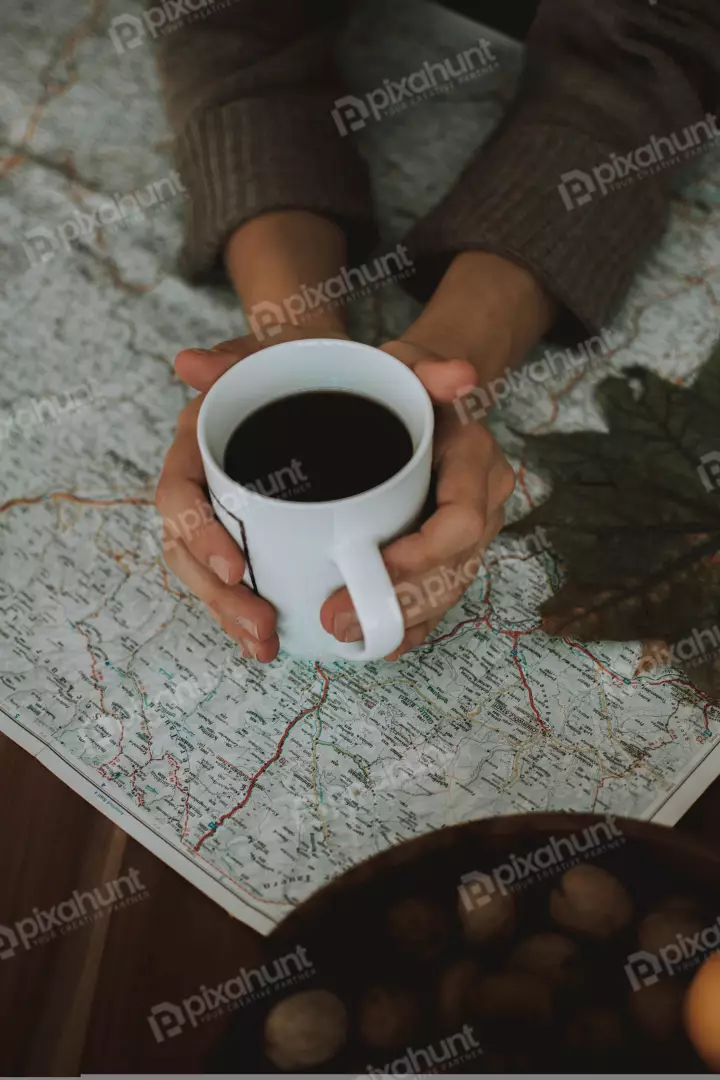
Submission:
[[[598,176],[612,167],[613,148],[589,136],[508,123],[406,238],[416,272],[405,287],[426,302],[457,254],[492,252],[528,269],[563,306],[556,337],[598,334],[661,234],[668,201],[657,177],[630,176],[622,186],[620,167],[603,192]]]

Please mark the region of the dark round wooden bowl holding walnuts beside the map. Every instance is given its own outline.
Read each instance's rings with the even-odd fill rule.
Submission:
[[[600,867],[622,882],[633,900],[631,924],[608,941],[560,930],[580,949],[582,980],[553,993],[552,1021],[543,1023],[534,1015],[513,1018],[502,1010],[492,1015],[493,1008],[489,1014],[467,1014],[478,1049],[460,1053],[466,1044],[459,1036],[460,1026],[448,1030],[438,1007],[443,973],[466,959],[475,960],[484,975],[501,973],[518,941],[558,931],[549,917],[549,896],[573,865]],[[458,917],[459,887],[464,876],[478,872],[488,875],[498,891],[499,867],[504,867],[501,891],[514,900],[515,926],[512,932],[474,945],[466,941]],[[692,901],[703,927],[720,916],[720,858],[670,828],[592,814],[548,813],[438,829],[357,865],[320,889],[277,927],[268,939],[268,963],[301,946],[312,967],[237,1008],[216,1064],[223,1071],[281,1071],[264,1053],[266,1017],[284,998],[322,988],[345,1005],[349,1037],[332,1059],[300,1069],[303,1072],[367,1075],[370,1067],[380,1071],[390,1067],[392,1075],[395,1062],[399,1074],[409,1049],[429,1047],[458,1052],[436,1066],[436,1071],[448,1072],[705,1071],[684,1036],[679,1005],[674,1005],[671,1021],[660,1023],[660,1036],[649,1036],[636,1018],[639,1002],[647,1002],[643,1012],[660,1020],[667,1007],[663,999],[680,1000],[704,957],[691,956],[689,946],[688,959],[671,968],[662,966],[655,972],[647,960],[644,964],[636,960],[628,973],[629,958],[639,951],[639,920],[671,896]],[[399,922],[390,916],[408,899],[421,901],[433,913],[424,939],[422,933],[418,939],[418,928],[410,926],[412,916],[405,918],[406,908],[398,909]],[[662,959],[657,956],[658,963]],[[416,1002],[417,1022],[402,1044],[378,1049],[361,1032],[363,1003],[377,986],[410,995]],[[612,1038],[602,1034],[608,1011],[613,1014]],[[592,1023],[588,1016],[594,1017]],[[622,1039],[615,1044],[617,1030]],[[449,1036],[457,1038],[444,1043]],[[424,1063],[425,1057],[410,1058],[410,1064],[418,1061]]]

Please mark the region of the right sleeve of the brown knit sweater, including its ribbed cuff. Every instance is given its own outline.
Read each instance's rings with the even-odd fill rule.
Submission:
[[[457,253],[494,252],[561,301],[558,337],[600,333],[662,234],[669,137],[709,146],[719,96],[717,0],[544,0],[505,121],[406,239],[406,287],[425,301]]]

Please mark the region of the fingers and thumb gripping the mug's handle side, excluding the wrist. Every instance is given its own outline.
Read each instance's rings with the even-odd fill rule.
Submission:
[[[407,340],[383,347],[413,369],[433,399],[436,512],[419,531],[400,537],[383,558],[405,615],[405,638],[388,660],[421,645],[475,579],[483,553],[504,524],[515,474],[490,432],[451,402],[476,382],[472,365],[446,360]],[[323,605],[324,629],[341,642],[362,637],[350,594]]]

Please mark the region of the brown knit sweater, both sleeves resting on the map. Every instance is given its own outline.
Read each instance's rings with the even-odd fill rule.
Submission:
[[[375,237],[363,162],[332,118],[348,93],[334,44],[353,5],[233,0],[160,39],[192,276],[272,210],[340,221],[354,259]],[[406,286],[424,300],[454,254],[494,252],[596,333],[662,232],[674,167],[714,137],[720,0],[542,0],[510,114],[406,239]]]

